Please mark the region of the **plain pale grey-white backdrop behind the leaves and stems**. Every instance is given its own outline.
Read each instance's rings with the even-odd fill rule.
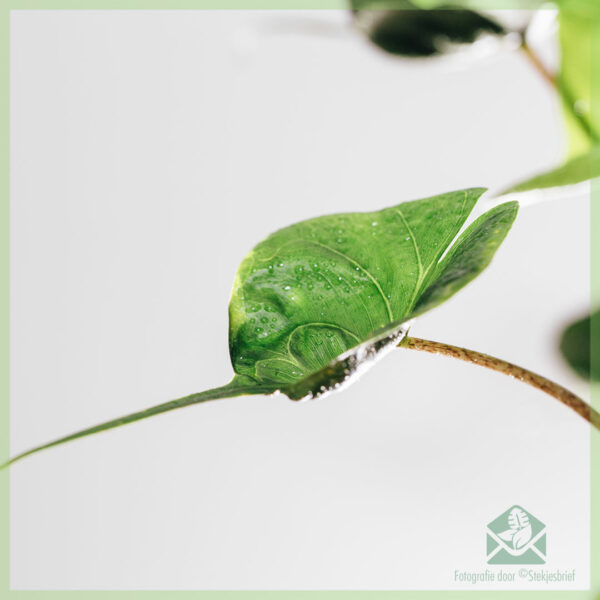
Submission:
[[[228,381],[233,275],[272,230],[560,160],[558,103],[518,53],[396,60],[347,24],[13,13],[13,453]],[[586,395],[556,342],[588,307],[588,208],[524,207],[413,334]],[[585,588],[588,449],[541,392],[398,350],[322,401],[208,403],[17,464],[12,586],[444,589],[518,503]]]

